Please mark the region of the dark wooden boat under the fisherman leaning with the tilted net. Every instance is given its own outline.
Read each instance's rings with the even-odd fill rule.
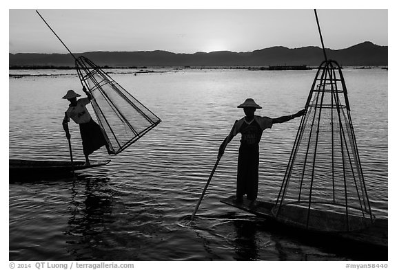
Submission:
[[[110,160],[91,161],[90,165],[85,165],[84,161],[74,161],[72,164],[71,161],[10,159],[10,178],[68,175],[73,171],[103,166],[109,162]]]

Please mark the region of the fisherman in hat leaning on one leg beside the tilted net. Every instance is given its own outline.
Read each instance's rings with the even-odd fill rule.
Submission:
[[[90,159],[88,159],[88,155],[101,148],[101,146],[106,146],[109,154],[112,154],[113,152],[109,148],[108,142],[103,135],[101,126],[92,120],[90,113],[85,107],[85,105],[89,104],[90,100],[92,100],[92,95],[85,87],[83,87],[83,92],[87,95],[87,98],[80,98],[77,100],[77,97],[80,97],[81,95],[74,92],[73,90],[69,90],[68,93],[63,96],[63,98],[69,100],[70,104],[68,110],[65,111],[65,118],[63,118],[62,126],[65,130],[66,137],[70,139],[68,127],[70,118],[72,118],[76,124],[79,124],[80,135],[83,141],[85,165],[90,165]]]

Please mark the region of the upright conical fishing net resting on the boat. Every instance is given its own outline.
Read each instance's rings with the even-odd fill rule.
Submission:
[[[272,212],[278,221],[326,232],[370,225],[347,89],[333,60],[318,68]]]

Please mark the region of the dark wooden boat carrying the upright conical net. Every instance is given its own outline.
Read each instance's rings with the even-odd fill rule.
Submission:
[[[276,229],[282,229],[283,232],[292,234],[292,236],[319,242],[320,245],[326,243],[328,247],[333,245],[336,249],[345,248],[349,250],[351,247],[360,247],[360,250],[365,249],[365,251],[370,252],[369,256],[374,256],[376,260],[387,260],[388,222],[385,218],[376,218],[371,226],[352,232],[317,232],[292,227],[276,221],[272,214],[274,203],[271,202],[255,201],[255,203],[252,203],[252,201],[245,198],[243,201],[237,202],[236,196],[230,196],[222,199],[221,203],[261,216],[269,223],[272,223]]]

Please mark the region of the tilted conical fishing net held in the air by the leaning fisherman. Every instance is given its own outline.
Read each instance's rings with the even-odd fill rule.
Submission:
[[[77,58],[76,68],[81,82],[93,97],[92,107],[114,154],[120,153],[161,122],[87,58]]]

